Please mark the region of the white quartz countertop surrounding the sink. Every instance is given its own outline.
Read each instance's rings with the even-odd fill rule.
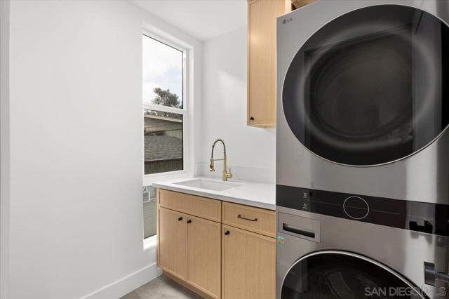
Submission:
[[[201,187],[191,187],[186,185],[177,185],[177,182],[185,182],[189,180],[206,180],[210,182],[230,183],[235,185],[227,190],[208,190]],[[194,177],[177,180],[169,180],[165,182],[154,182],[153,187],[175,192],[182,192],[187,194],[197,195],[199,197],[208,197],[211,199],[220,199],[222,201],[229,201],[236,204],[245,204],[247,206],[255,206],[257,208],[267,208],[269,210],[276,210],[276,185],[262,183],[262,182],[246,182],[239,180],[230,180],[223,182],[215,178]]]

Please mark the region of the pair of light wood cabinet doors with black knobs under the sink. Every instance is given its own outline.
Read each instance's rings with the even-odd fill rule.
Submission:
[[[204,298],[221,297],[221,223],[158,208],[158,265]]]

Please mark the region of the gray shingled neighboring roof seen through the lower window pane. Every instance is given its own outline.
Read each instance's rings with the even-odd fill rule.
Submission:
[[[144,135],[145,162],[182,159],[182,140],[163,135]]]

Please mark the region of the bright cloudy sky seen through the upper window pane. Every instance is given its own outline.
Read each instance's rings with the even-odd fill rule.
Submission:
[[[143,35],[143,101],[152,103],[154,88],[170,89],[182,102],[182,52]]]

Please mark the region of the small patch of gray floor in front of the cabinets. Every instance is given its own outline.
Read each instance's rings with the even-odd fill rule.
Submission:
[[[187,288],[161,275],[121,299],[200,299]]]

